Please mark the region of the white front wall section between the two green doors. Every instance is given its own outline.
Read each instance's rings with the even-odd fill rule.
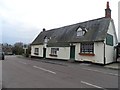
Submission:
[[[59,48],[57,51],[57,57],[50,56],[51,48]],[[46,49],[46,58],[54,58],[54,59],[70,59],[70,47],[47,47]]]

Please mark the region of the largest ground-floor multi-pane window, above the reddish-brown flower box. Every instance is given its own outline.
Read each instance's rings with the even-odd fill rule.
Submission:
[[[81,43],[82,54],[94,54],[94,43]]]

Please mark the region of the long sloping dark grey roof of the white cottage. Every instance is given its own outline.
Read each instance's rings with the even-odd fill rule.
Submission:
[[[101,17],[97,19],[92,19],[84,22],[79,22],[76,24],[66,25],[63,27],[43,31],[38,35],[38,37],[33,41],[32,44],[43,43],[45,36],[51,37],[52,39],[50,40],[50,42],[53,43],[58,43],[59,41],[83,42],[104,40],[105,33],[108,30],[107,27],[109,26],[110,21],[111,18]],[[76,36],[77,34],[76,30],[80,26],[83,27],[85,26],[89,31],[84,35],[84,37],[78,38]]]

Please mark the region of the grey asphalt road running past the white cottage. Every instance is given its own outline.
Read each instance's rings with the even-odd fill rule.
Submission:
[[[118,71],[66,61],[6,56],[3,88],[118,88]],[[109,89],[108,89],[109,90]]]

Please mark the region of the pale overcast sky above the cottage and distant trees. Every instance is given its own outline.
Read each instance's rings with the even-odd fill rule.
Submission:
[[[104,17],[107,1],[118,35],[119,0],[0,0],[0,43],[32,43],[43,28]]]

